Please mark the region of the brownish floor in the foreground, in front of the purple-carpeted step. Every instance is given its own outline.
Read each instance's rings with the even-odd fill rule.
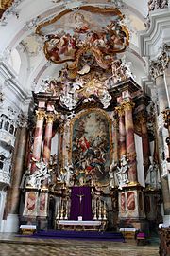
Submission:
[[[35,239],[0,234],[0,256],[158,256],[159,245],[64,239]]]

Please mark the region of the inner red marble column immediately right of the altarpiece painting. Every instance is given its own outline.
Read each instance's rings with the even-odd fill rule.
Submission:
[[[118,155],[121,159],[122,155],[126,155],[126,129],[125,129],[125,117],[124,110],[121,106],[116,107],[116,111],[119,117],[119,143],[118,143]]]

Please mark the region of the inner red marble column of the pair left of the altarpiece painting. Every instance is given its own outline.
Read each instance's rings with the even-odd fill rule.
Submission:
[[[48,163],[51,155],[51,139],[52,139],[52,129],[53,129],[54,115],[46,115],[46,127],[45,127],[45,137],[43,142],[43,162]]]

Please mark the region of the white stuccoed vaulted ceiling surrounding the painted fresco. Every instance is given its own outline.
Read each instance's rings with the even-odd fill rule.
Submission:
[[[6,2],[11,4],[12,1]],[[141,78],[146,76],[146,62],[140,54],[139,44],[139,33],[146,29],[145,20],[148,14],[146,0],[16,0],[4,12],[0,21],[0,55],[5,56],[4,59],[14,68],[17,63],[14,64],[10,54],[12,53],[16,58],[16,51],[19,53],[21,66],[20,72],[18,70],[16,77],[20,86],[28,95],[31,94],[31,90],[35,89],[36,84],[41,83],[44,78],[58,77],[59,69],[63,65],[54,64],[47,60],[43,50],[46,38],[36,33],[37,27],[40,27],[45,22],[50,23],[53,18],[64,10],[71,10],[71,13],[75,15],[80,7],[86,6],[101,9],[118,7],[122,14],[125,15],[124,25],[129,32],[129,46],[126,51],[127,61],[132,63],[132,72],[136,76],[138,83],[141,83]],[[67,18],[60,20],[63,30],[68,30],[69,21]],[[94,19],[95,16],[93,18],[89,16],[88,22],[92,27],[95,23]],[[49,31],[54,31],[56,26],[56,23],[53,23]],[[49,33],[46,32],[46,34]],[[124,53],[121,54],[122,56],[124,55]],[[16,70],[17,68],[15,68]]]

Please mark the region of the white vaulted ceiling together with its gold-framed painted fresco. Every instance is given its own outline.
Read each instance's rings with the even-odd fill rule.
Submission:
[[[18,79],[29,94],[47,77],[64,80],[62,68],[71,80],[86,76],[89,81],[94,70],[109,77],[112,62],[124,54],[133,69],[140,67],[142,77],[138,33],[145,29],[147,13],[147,3],[135,0],[43,0],[41,5],[40,0],[15,0],[1,19],[1,35],[8,30],[8,43],[1,37],[0,49],[6,59],[13,48],[25,56],[26,75]]]

